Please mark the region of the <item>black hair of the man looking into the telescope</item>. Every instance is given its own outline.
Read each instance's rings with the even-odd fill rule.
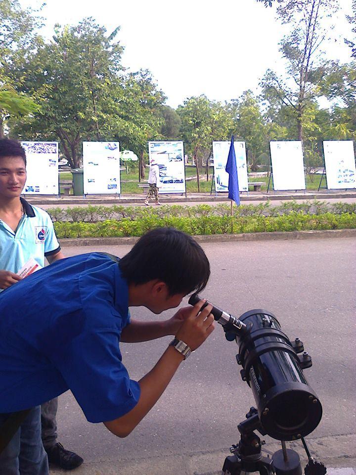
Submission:
[[[210,276],[205,252],[191,237],[174,228],[155,228],[144,234],[119,262],[129,284],[159,279],[170,295],[201,292]]]

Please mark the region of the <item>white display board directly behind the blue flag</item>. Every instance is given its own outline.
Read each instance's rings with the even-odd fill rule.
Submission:
[[[231,142],[213,142],[214,179],[216,191],[228,191],[228,173],[225,172]],[[245,142],[234,142],[239,191],[248,191]]]

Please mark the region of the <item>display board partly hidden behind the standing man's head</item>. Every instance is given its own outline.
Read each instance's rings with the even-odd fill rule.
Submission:
[[[24,194],[58,194],[58,142],[21,142],[26,152]]]

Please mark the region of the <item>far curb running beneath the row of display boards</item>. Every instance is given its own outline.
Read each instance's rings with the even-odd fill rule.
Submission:
[[[252,193],[252,192],[251,192]],[[133,196],[133,195],[123,195],[120,197],[103,197],[102,195],[95,197],[90,195],[86,196],[75,196],[71,198],[67,197],[56,197],[48,198],[45,196],[33,196],[33,195],[23,195],[26,199],[30,200],[33,204],[142,204],[144,196]],[[291,200],[291,199],[341,199],[341,198],[356,198],[356,192],[330,192],[330,193],[299,193],[299,194],[249,194],[248,196],[240,196],[240,201],[273,201],[273,200]],[[191,201],[230,201],[227,196],[215,196],[210,194],[199,193],[198,196],[169,196],[164,197],[160,196],[162,203],[189,203]]]

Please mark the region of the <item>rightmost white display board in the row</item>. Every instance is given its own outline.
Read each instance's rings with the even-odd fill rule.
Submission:
[[[354,142],[327,140],[323,142],[323,148],[328,189],[356,188]]]

